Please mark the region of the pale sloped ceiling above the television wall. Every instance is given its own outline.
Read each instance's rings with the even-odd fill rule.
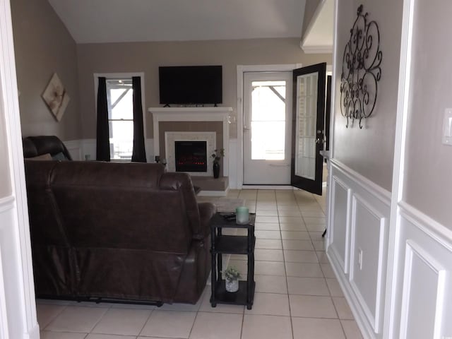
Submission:
[[[305,1],[49,0],[49,3],[77,43],[97,43],[300,38]]]

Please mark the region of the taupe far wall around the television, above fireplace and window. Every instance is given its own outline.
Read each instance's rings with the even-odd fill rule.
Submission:
[[[93,73],[145,73],[145,109],[160,106],[158,66],[222,65],[222,106],[237,111],[237,65],[297,64],[322,61],[331,64],[331,54],[304,54],[299,39],[216,40],[196,42],[132,42],[78,44],[78,77],[83,138],[95,138],[95,93]],[[146,113],[146,135],[153,137],[152,117]],[[230,126],[237,137],[237,126]]]

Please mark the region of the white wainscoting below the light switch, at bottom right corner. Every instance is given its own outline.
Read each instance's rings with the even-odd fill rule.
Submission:
[[[452,231],[399,203],[393,338],[452,338]]]

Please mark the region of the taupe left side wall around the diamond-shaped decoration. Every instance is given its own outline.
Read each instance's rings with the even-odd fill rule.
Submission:
[[[80,138],[76,43],[47,0],[11,0],[11,12],[23,136]],[[41,97],[54,72],[71,97],[60,122]]]

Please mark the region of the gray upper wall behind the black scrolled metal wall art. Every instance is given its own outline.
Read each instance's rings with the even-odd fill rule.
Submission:
[[[335,73],[334,157],[375,184],[391,191],[394,139],[396,131],[398,72],[400,62],[400,32],[402,2],[392,0],[340,1],[338,13],[338,59]],[[345,128],[347,119],[340,114],[340,75],[343,51],[350,38],[357,8],[364,4],[369,19],[376,20],[380,29],[380,49],[383,52],[381,81],[376,107],[371,117]]]

